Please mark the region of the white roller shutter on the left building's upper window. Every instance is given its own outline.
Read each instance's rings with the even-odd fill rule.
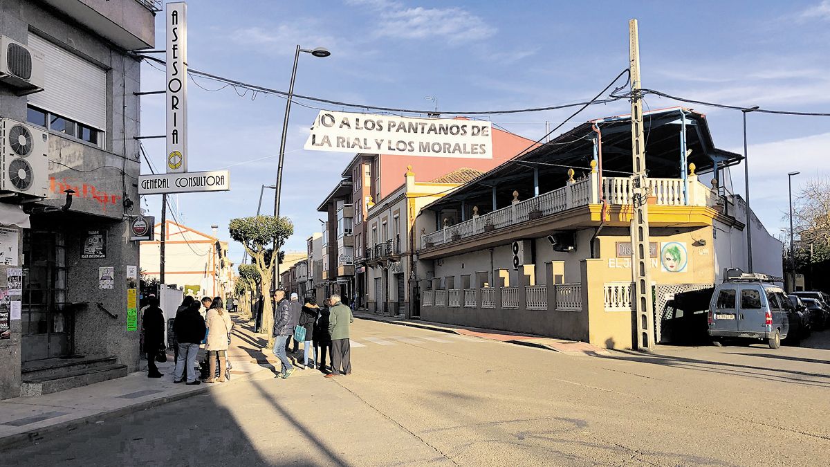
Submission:
[[[44,55],[44,91],[29,103],[59,116],[106,129],[106,71],[29,33],[28,46]]]

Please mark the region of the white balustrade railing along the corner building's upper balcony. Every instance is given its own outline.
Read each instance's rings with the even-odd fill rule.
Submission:
[[[631,179],[603,178],[602,195],[610,204],[632,204]],[[697,181],[696,175],[688,179],[647,179],[649,196],[654,202],[666,206],[695,205],[715,206],[717,195]],[[447,226],[432,234],[422,235],[421,248],[431,248],[462,238],[471,238],[485,232],[503,229],[513,224],[539,219],[568,209],[598,204],[603,199],[597,189],[597,174],[587,179],[569,181],[564,187],[525,199],[505,208],[496,209],[459,224]]]

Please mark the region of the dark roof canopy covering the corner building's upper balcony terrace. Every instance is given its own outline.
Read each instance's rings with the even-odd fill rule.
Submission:
[[[686,149],[691,150],[686,164],[694,163],[697,174],[713,171],[715,161],[723,167],[743,159],[741,155],[715,148],[705,115],[683,107],[649,111],[643,113],[648,176],[681,178],[681,112],[686,113]],[[631,175],[631,118],[627,115],[606,117],[587,121],[525,155],[506,161],[424,209],[456,209],[464,201],[468,208],[477,204],[479,214],[484,214],[492,209],[494,186],[496,209],[510,204],[514,190],[519,192],[519,199],[534,196],[535,170],[539,172],[540,194],[564,186],[569,168],[576,172],[574,177],[587,175],[593,160],[593,139],[597,137],[592,128],[594,124],[602,132],[603,176]]]

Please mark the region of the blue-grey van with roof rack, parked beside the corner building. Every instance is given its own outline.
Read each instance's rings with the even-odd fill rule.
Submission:
[[[715,288],[709,305],[709,336],[716,346],[725,341],[765,341],[781,347],[789,334],[788,310],[792,305],[774,278],[741,274]]]

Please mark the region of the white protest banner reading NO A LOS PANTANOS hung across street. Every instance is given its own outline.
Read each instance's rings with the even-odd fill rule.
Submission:
[[[489,121],[320,111],[305,150],[493,158]]]

